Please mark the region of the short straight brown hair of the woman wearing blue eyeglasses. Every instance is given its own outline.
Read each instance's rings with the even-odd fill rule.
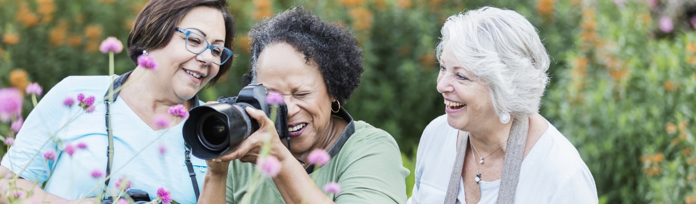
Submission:
[[[198,6],[207,6],[222,12],[225,20],[225,47],[234,51],[232,43],[237,29],[235,19],[227,11],[227,0],[152,0],[138,13],[128,35],[128,56],[137,65],[137,58],[143,50],[165,47],[174,36],[177,24],[184,19],[189,10]],[[222,75],[227,74],[232,67],[232,58],[234,56],[220,65],[220,71],[210,79],[208,86],[214,85]]]

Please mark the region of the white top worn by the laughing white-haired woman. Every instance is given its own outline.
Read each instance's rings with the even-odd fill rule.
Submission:
[[[416,156],[416,185],[407,203],[444,203],[457,155],[457,134],[446,115],[425,128]],[[479,203],[496,203],[500,180],[482,181],[480,187]],[[465,193],[460,180],[457,203],[466,203]],[[515,203],[598,202],[594,178],[578,150],[548,123],[548,130],[522,161]]]

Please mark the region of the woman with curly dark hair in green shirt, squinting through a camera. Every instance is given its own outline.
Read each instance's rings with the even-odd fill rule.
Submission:
[[[247,109],[259,130],[237,150],[207,161],[200,202],[239,203],[250,196],[254,163],[270,137],[270,154],[282,168],[272,179],[262,179],[251,195],[253,203],[405,203],[409,171],[402,167],[397,143],[383,130],[354,121],[342,108],[364,70],[362,50],[350,31],[292,8],[255,25],[249,38],[252,67],[244,81],[283,95],[290,150],[263,111]],[[308,162],[315,149],[331,155],[317,171]],[[340,194],[322,192],[320,187],[329,182],[338,182]]]

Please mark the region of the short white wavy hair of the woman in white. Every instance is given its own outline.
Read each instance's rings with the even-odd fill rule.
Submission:
[[[450,16],[441,32],[438,61],[450,46],[464,69],[487,85],[496,113],[528,117],[539,112],[551,60],[525,17],[487,6]]]

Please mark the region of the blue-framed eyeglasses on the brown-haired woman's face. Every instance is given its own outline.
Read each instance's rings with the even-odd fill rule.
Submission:
[[[214,56],[213,63],[216,65],[222,65],[223,63],[227,62],[228,59],[230,59],[230,56],[232,56],[231,49],[222,46],[210,45],[208,40],[205,40],[205,38],[198,35],[198,33],[193,33],[186,29],[180,29],[179,27],[176,28],[176,31],[186,35],[185,45],[189,52],[192,52],[193,54],[201,54],[206,49],[210,49],[210,52]]]

